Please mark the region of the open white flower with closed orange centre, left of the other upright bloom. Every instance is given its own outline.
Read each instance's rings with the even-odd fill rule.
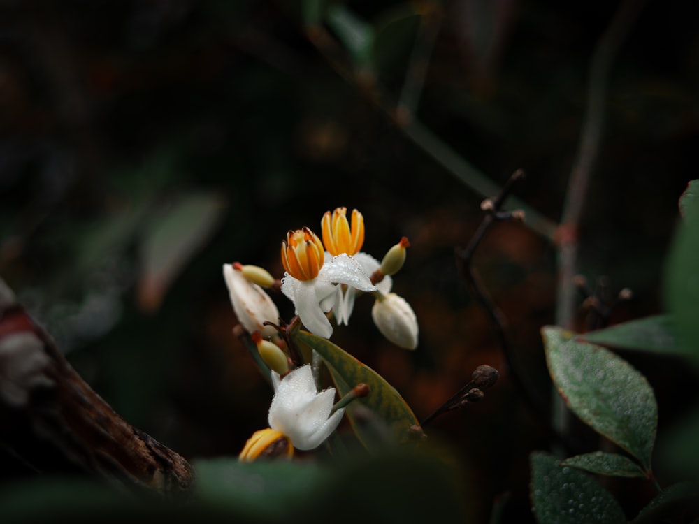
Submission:
[[[345,318],[346,302],[338,284],[362,291],[376,291],[361,263],[347,254],[329,257],[322,242],[309,228],[287,233],[282,242],[282,292],[293,303],[303,325],[324,338],[333,334],[325,313],[337,308]]]

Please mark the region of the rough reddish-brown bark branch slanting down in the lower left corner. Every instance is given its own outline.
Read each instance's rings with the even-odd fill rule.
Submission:
[[[38,472],[85,472],[127,490],[175,495],[194,477],[92,390],[2,279],[0,444]]]

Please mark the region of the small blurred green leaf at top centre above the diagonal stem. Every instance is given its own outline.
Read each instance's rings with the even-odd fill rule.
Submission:
[[[371,71],[374,62],[373,27],[357,17],[343,3],[336,3],[328,9],[326,21],[345,45],[354,60],[354,65],[361,70]]]

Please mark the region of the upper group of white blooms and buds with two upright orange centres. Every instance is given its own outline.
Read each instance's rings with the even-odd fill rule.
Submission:
[[[296,314],[311,333],[329,338],[333,333],[328,314],[347,325],[359,293],[375,298],[372,318],[380,332],[398,346],[417,347],[417,318],[403,298],[391,293],[391,276],[403,265],[406,238],[391,247],[380,262],[361,252],[364,220],[357,210],[347,219],[347,208],[326,212],[321,221],[322,240],[308,227],[289,231],[282,241],[284,277],[282,293],[294,303]],[[224,277],[238,321],[249,332],[273,335],[278,310],[262,286],[274,279],[261,268],[224,264]],[[265,324],[267,323],[267,324]]]

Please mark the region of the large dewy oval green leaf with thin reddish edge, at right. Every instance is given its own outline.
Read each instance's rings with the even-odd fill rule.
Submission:
[[[565,404],[649,472],[658,406],[646,378],[611,351],[579,342],[575,333],[545,326],[542,335],[549,373]]]

